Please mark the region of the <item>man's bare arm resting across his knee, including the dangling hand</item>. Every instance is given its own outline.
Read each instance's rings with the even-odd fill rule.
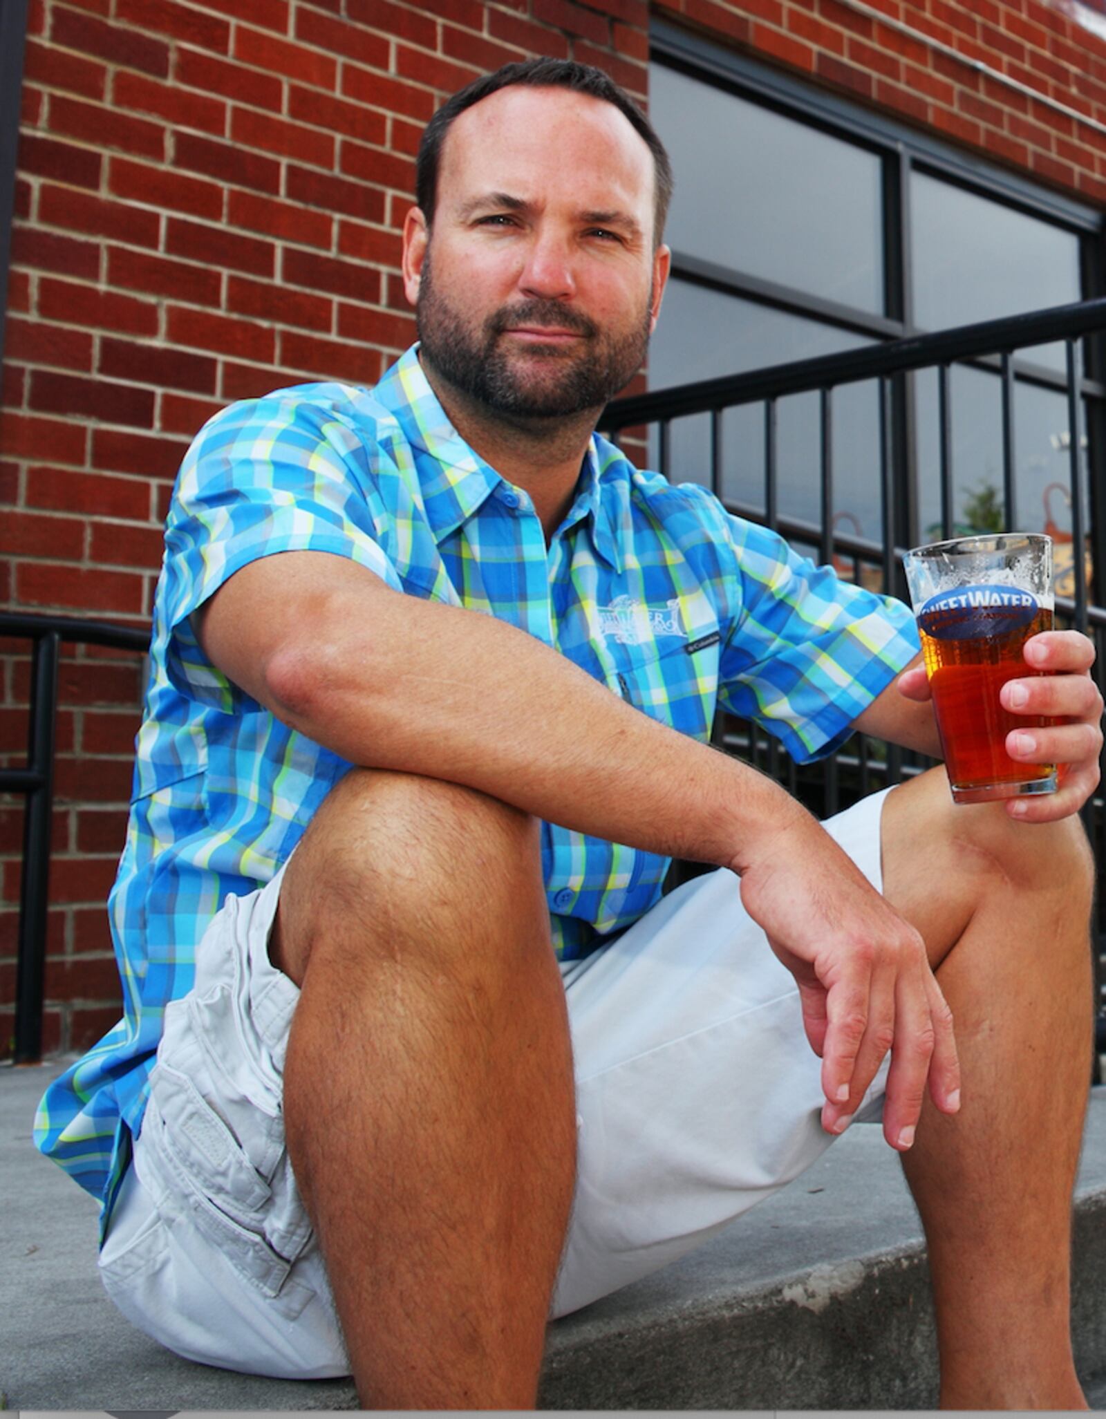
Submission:
[[[909,1145],[900,1138],[927,1083],[956,1110],[951,1022],[921,938],[748,765],[650,719],[524,631],[399,595],[327,553],[250,563],[196,630],[231,681],[354,763],[449,779],[579,832],[733,868],[781,959],[821,982],[804,988],[804,1017],[823,1059],[823,1125],[838,1130],[887,1039],[902,1060],[887,1139]],[[890,988],[873,992],[876,978]]]

